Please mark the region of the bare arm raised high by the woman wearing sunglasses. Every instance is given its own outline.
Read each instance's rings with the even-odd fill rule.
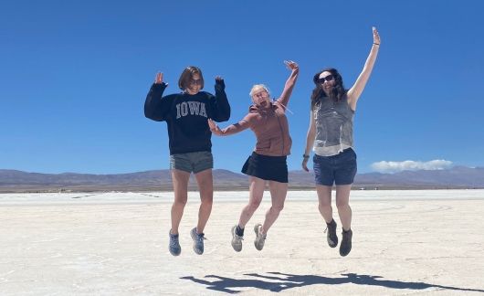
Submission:
[[[374,69],[374,61],[376,60],[378,49],[380,48],[380,36],[378,35],[378,31],[376,31],[375,27],[373,27],[373,32],[374,44],[370,50],[370,55],[368,58],[366,58],[362,73],[360,73],[360,76],[358,76],[358,79],[356,79],[356,82],[354,82],[352,88],[348,90],[348,104],[353,111],[356,110],[356,102],[360,98],[360,95],[364,90],[364,86],[372,74],[372,70]]]

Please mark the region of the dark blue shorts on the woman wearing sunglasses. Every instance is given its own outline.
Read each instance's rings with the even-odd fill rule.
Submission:
[[[356,153],[352,148],[331,156],[314,154],[312,161],[317,185],[351,185],[356,175]]]

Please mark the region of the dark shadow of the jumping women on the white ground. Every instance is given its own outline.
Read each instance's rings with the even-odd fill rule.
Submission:
[[[269,275],[258,273],[245,273],[245,276],[252,277],[248,280],[237,280],[226,278],[218,275],[206,275],[203,280],[196,279],[193,276],[186,276],[180,279],[192,280],[196,283],[203,284],[208,290],[223,291],[230,294],[236,294],[241,291],[235,290],[237,288],[257,288],[260,290],[279,292],[293,288],[305,287],[310,285],[341,285],[353,283],[363,286],[380,286],[389,289],[407,289],[407,290],[425,290],[428,288],[435,288],[437,290],[450,291],[476,291],[484,293],[484,290],[458,288],[452,286],[435,285],[421,281],[403,281],[403,280],[384,280],[384,277],[356,274],[356,273],[342,273],[342,277],[329,278],[317,275],[297,275],[281,272],[268,272]],[[277,281],[274,281],[277,280]]]

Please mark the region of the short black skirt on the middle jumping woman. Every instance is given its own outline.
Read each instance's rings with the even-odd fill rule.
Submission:
[[[262,180],[288,183],[287,156],[267,156],[252,153],[242,167],[242,173]]]

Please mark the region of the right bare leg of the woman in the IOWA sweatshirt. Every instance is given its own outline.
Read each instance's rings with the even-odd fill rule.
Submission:
[[[204,233],[206,222],[210,213],[212,212],[212,204],[214,201],[214,181],[212,176],[212,169],[195,174],[196,183],[198,183],[198,190],[200,190],[200,208],[198,209],[198,223],[196,225],[196,232]]]

